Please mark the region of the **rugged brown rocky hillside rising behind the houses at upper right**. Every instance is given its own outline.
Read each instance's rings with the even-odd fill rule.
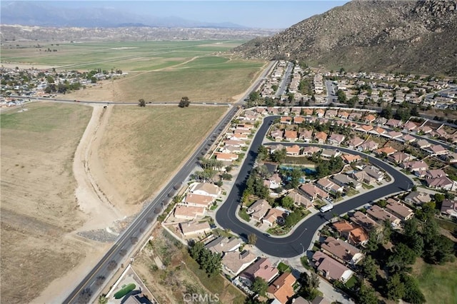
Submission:
[[[328,69],[457,74],[457,0],[355,0],[235,49]]]

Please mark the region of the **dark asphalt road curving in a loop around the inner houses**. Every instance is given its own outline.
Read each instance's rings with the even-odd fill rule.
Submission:
[[[251,168],[256,160],[258,146],[261,145],[263,141],[263,136],[265,136],[268,131],[268,127],[273,123],[274,118],[278,116],[269,116],[264,118],[261,128],[259,128],[256,136],[253,138],[251,148],[248,153],[246,153],[246,160],[241,166],[240,172],[238,173],[238,178],[236,178],[236,183],[234,184],[229,196],[226,199],[226,202],[219,208],[216,213],[216,222],[223,228],[229,228],[233,233],[241,235],[243,238],[247,238],[247,235],[254,233],[257,235],[256,247],[268,255],[273,255],[281,258],[291,258],[296,255],[301,255],[306,248],[311,244],[312,238],[316,230],[323,224],[333,218],[333,213],[346,213],[355,208],[359,208],[366,203],[375,201],[378,198],[388,196],[390,193],[397,193],[400,191],[406,191],[406,189],[411,189],[413,182],[405,176],[400,171],[397,171],[392,166],[380,161],[377,158],[367,156],[365,153],[360,153],[358,151],[353,151],[346,148],[339,148],[340,151],[345,151],[352,154],[358,154],[363,156],[363,158],[368,157],[371,163],[374,163],[376,166],[383,168],[388,172],[393,179],[394,183],[391,183],[381,188],[376,188],[373,191],[364,193],[361,196],[357,196],[343,203],[339,203],[333,207],[333,210],[330,213],[318,213],[309,217],[304,221],[300,226],[298,226],[291,235],[288,235],[284,238],[274,238],[273,236],[267,237],[263,233],[246,223],[241,222],[236,217],[236,207],[240,203],[241,193],[245,187],[246,178],[248,173],[250,173]],[[274,143],[273,143],[274,144]],[[307,146],[306,143],[281,143],[283,146],[298,144],[299,146]],[[326,148],[336,148],[334,146],[320,145]]]

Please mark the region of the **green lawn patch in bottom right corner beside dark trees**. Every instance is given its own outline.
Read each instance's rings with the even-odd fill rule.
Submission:
[[[457,262],[430,265],[418,259],[413,268],[427,303],[457,303]]]

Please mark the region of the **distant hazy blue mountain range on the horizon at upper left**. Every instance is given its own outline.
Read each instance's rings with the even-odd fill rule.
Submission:
[[[104,2],[100,2],[101,4]],[[21,24],[26,26],[63,27],[183,27],[183,28],[224,28],[245,29],[246,26],[230,22],[209,23],[186,20],[175,16],[157,17],[131,14],[110,8],[69,9],[52,6],[45,1],[1,1],[1,24]]]

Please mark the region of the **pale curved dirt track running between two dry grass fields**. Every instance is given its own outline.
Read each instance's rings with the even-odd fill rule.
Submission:
[[[99,131],[104,129],[107,120],[105,116],[108,117],[110,111],[111,107],[94,106],[91,120],[81,137],[78,148],[76,148],[73,173],[76,183],[78,183],[78,188],[76,188],[75,195],[79,208],[89,216],[89,220],[76,232],[106,228],[113,221],[123,218],[104,193],[100,191],[91,173],[93,169],[89,166],[92,150],[96,146],[94,141],[101,137],[101,132]],[[102,122],[104,123],[103,126]]]

